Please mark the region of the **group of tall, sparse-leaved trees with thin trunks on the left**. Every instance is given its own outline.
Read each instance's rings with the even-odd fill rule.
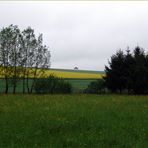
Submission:
[[[16,93],[20,80],[22,92],[32,93],[36,79],[49,67],[50,51],[43,45],[42,34],[36,36],[31,27],[21,31],[16,25],[0,30],[0,77],[5,80],[6,94],[10,85]]]

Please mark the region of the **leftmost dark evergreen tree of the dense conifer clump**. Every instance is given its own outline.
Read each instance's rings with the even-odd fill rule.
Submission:
[[[109,67],[105,66],[106,76],[104,77],[107,87],[112,92],[122,93],[126,86],[126,78],[124,76],[124,60],[125,55],[123,51],[119,50],[111,57]]]

